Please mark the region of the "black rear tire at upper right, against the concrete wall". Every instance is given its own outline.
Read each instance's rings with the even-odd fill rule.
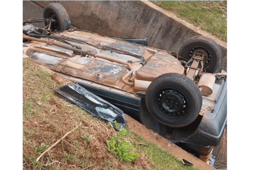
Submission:
[[[204,69],[206,72],[216,72],[221,62],[221,49],[220,46],[210,38],[195,36],[188,39],[181,46],[178,55],[189,60],[193,53],[199,50],[204,50],[207,55],[204,59]]]

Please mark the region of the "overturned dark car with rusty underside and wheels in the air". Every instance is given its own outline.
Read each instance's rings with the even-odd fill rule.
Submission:
[[[209,38],[190,38],[177,54],[145,40],[71,29],[64,7],[52,3],[44,19],[23,22],[23,51],[203,161],[220,142],[227,73],[215,73],[221,50]]]

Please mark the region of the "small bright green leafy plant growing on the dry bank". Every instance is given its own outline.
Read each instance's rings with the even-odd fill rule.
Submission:
[[[126,135],[127,130],[121,128],[118,134],[123,138]],[[126,160],[132,162],[136,157],[139,157],[139,153],[134,151],[134,146],[126,141],[120,139],[117,134],[110,136],[110,139],[106,141],[105,148],[119,160]]]

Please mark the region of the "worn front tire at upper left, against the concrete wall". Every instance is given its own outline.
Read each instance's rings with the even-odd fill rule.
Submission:
[[[44,9],[44,18],[53,18],[56,22],[51,24],[52,31],[64,31],[71,28],[70,18],[65,8],[58,3],[46,5]],[[47,23],[45,23],[47,25]]]

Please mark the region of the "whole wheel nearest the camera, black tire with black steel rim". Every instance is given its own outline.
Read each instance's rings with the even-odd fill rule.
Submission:
[[[160,123],[169,127],[184,127],[199,115],[202,94],[188,77],[166,73],[149,85],[145,102],[149,113]]]

